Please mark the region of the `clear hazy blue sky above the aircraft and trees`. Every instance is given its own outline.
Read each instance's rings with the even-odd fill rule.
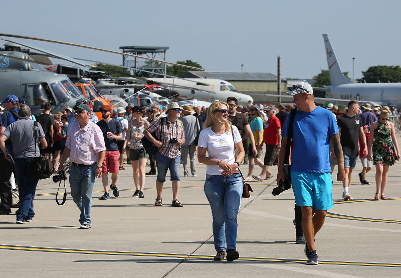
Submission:
[[[400,65],[400,1],[8,1],[1,33],[119,51],[168,46],[166,61],[192,60],[206,71],[272,72],[310,79],[327,69],[323,33],[342,71],[361,78],[369,66]],[[122,57],[10,38],[71,57],[122,64]],[[0,44],[3,44],[0,42]]]

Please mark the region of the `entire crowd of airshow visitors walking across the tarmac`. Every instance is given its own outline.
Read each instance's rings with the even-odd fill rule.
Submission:
[[[376,170],[374,199],[385,200],[389,166],[399,160],[395,126],[389,121],[390,111],[384,106],[359,106],[351,100],[347,109],[329,103],[317,106],[313,89],[306,83],[294,85],[288,92],[294,105],[238,105],[235,97],[227,102],[215,101],[210,107],[192,107],[170,103],[167,107],[153,104],[149,109],[129,103],[126,107],[104,105],[99,120],[90,104],[65,107],[52,114],[45,103],[43,112],[33,116],[21,97],[8,95],[2,102],[6,112],[0,119],[0,214],[10,214],[15,173],[20,208],[17,224],[34,218],[33,199],[38,180],[28,179],[30,158],[40,153],[51,159],[54,172],[68,172],[71,195],[80,210],[80,227],[91,227],[90,211],[95,178],[101,178],[104,194],[109,190],[119,197],[118,173],[126,170],[124,159],[132,166],[135,191],[132,197],[145,198],[146,176],[157,175],[156,206],[162,205],[162,189],[167,171],[172,183],[172,207],[183,207],[179,197],[180,164],[185,177],[196,177],[196,158],[206,164],[204,191],[213,215],[215,260],[233,261],[236,250],[237,214],[243,179],[267,181],[273,177],[269,167],[278,165],[277,183],[284,179],[283,161],[292,130],[291,181],[296,200],[296,243],[305,244],[308,264],[317,264],[314,236],[322,227],[327,210],[332,207],[331,174],[338,167],[337,181],[343,183],[344,200],[352,200],[349,186],[352,170],[360,158],[361,184],[369,184],[366,173]],[[295,113],[290,126],[289,114]],[[34,121],[39,123],[35,145]],[[399,127],[401,128],[401,126]],[[145,141],[156,148],[149,152]],[[265,148],[263,148],[266,145]],[[39,146],[41,148],[39,148]],[[260,159],[264,150],[264,160]],[[149,154],[148,154],[149,153]],[[189,156],[189,165],[188,165]],[[150,171],[145,173],[149,161]],[[239,171],[248,164],[248,174]],[[255,166],[261,172],[254,173]],[[68,166],[68,167],[67,167]],[[189,169],[188,169],[189,168]],[[109,175],[111,181],[109,181]]]

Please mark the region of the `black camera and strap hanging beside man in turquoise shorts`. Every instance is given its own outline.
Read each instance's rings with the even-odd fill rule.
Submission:
[[[287,136],[287,145],[284,155],[284,182],[279,181],[279,186],[274,188],[272,194],[274,196],[279,195],[281,192],[291,188],[291,164],[290,164],[290,151],[291,151],[291,141],[292,141],[292,131],[294,126],[295,113],[297,109],[291,109],[290,112],[290,122],[288,124],[288,136]]]

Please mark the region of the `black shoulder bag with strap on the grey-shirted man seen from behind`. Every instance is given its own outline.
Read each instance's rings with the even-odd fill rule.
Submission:
[[[44,157],[37,157],[36,156],[36,146],[37,146],[37,137],[38,134],[38,122],[34,122],[34,141],[35,141],[35,155],[33,158],[29,160],[29,178],[33,179],[47,179],[53,174],[53,162],[44,158]]]

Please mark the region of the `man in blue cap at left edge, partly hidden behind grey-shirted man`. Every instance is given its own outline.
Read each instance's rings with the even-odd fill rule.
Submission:
[[[19,100],[15,95],[8,95],[2,103],[4,103],[6,112],[0,118],[0,135],[3,134],[7,126],[18,120]],[[9,154],[13,156],[11,140],[7,140],[5,143]],[[0,167],[2,168],[0,171],[0,199],[2,201],[0,215],[3,215],[10,214],[13,206],[12,187],[9,180],[14,170],[14,164],[5,158],[3,151],[0,152]]]

